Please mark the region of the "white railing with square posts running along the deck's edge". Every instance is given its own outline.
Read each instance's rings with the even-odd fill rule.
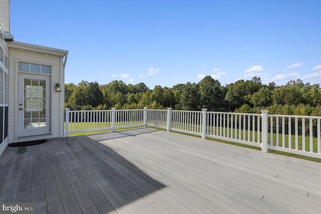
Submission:
[[[65,136],[70,133],[152,126],[268,149],[321,158],[321,117],[179,111],[168,108],[70,111],[66,108]]]

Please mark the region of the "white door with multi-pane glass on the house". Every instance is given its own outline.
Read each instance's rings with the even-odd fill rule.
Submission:
[[[19,75],[18,137],[50,134],[50,76]]]

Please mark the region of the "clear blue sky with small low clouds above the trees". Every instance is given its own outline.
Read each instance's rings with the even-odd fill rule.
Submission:
[[[321,1],[11,0],[11,33],[68,50],[66,83],[321,83]]]

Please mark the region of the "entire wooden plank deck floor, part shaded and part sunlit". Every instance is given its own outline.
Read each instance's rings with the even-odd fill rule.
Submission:
[[[321,164],[150,128],[7,147],[0,202],[36,213],[320,213]]]

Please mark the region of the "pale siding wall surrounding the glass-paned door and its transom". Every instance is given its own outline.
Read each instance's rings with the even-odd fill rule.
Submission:
[[[44,54],[31,53],[27,51],[10,49],[10,99],[9,99],[9,143],[19,142],[18,139],[18,83],[19,83],[19,72],[18,66],[19,62],[27,62],[41,65],[51,65],[51,136],[49,137],[62,137],[63,129],[61,129],[61,124],[63,124],[63,114],[61,114],[61,103],[63,92],[56,92],[55,85],[57,82],[63,83],[63,71],[61,70],[62,57],[50,56]],[[39,75],[39,74],[37,74]],[[63,108],[63,107],[62,107]],[[38,136],[28,137],[37,139]]]

